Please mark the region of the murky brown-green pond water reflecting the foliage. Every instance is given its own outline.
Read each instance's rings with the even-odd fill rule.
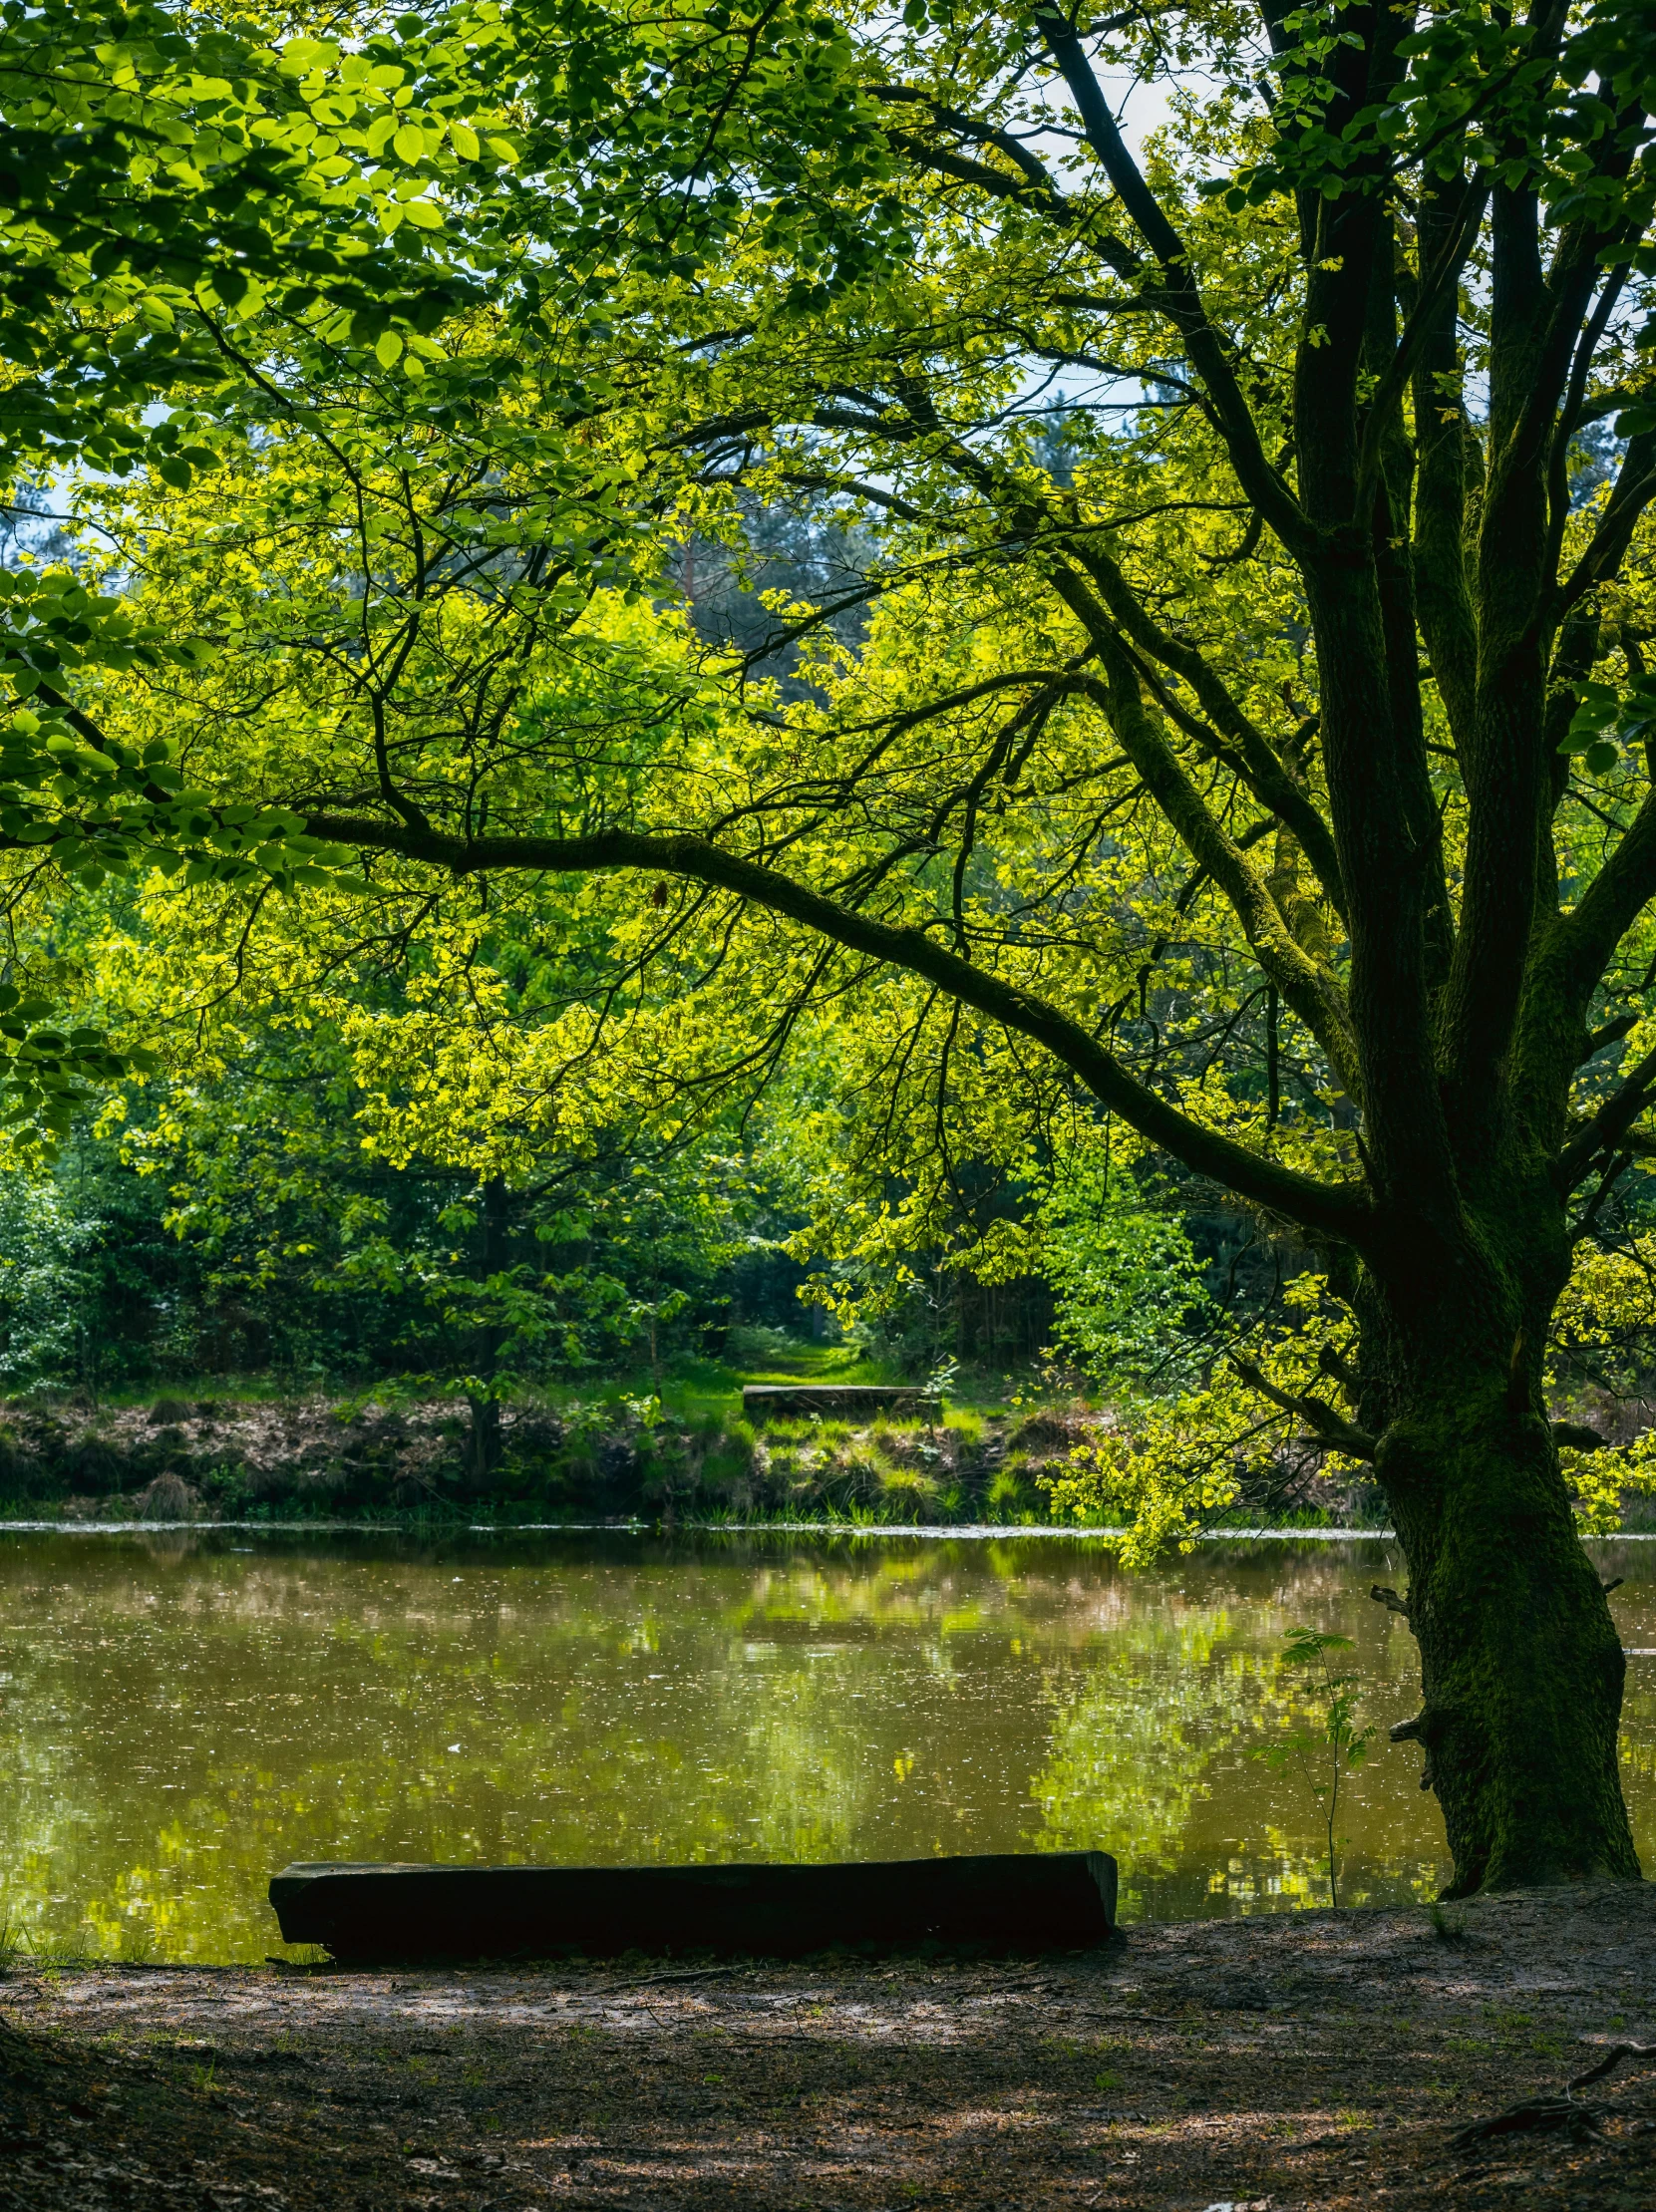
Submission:
[[[1625,1575],[1623,1778],[1656,1854],[1656,1544]],[[643,1863],[1103,1847],[1123,1916],[1322,1902],[1318,1807],[1258,1754],[1280,1639],[1355,1641],[1380,1728],[1346,1902],[1430,1896],[1402,1582],[1375,1542],[0,1535],[0,1918],[108,1958],[281,1955],[292,1858]]]

